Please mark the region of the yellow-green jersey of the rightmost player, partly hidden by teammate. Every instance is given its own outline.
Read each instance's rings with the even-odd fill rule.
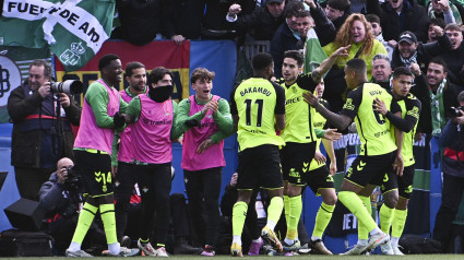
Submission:
[[[401,107],[401,117],[414,126],[409,132],[403,134],[401,155],[403,156],[404,167],[407,167],[415,163],[413,145],[414,135],[416,134],[417,125],[419,122],[421,104],[412,93],[408,93],[405,98],[397,101],[397,104]]]

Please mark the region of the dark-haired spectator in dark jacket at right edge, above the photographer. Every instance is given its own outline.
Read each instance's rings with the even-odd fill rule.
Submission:
[[[464,86],[464,46],[463,33],[456,24],[449,24],[444,28],[448,37],[451,39],[452,50],[449,50],[439,57],[447,61],[448,80],[460,86]]]

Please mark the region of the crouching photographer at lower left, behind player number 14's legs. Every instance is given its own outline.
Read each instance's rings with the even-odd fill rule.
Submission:
[[[74,163],[68,157],[58,161],[57,172],[41,185],[39,191],[40,204],[46,210],[45,232],[53,237],[58,255],[63,255],[71,243],[83,202],[73,166]],[[91,245],[99,249],[106,248],[105,233],[102,227],[93,223],[90,233],[91,239],[86,240],[84,248]]]

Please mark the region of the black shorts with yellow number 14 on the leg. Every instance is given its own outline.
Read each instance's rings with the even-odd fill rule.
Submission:
[[[84,193],[105,196],[112,193],[111,157],[106,153],[74,150],[75,168],[80,174]]]

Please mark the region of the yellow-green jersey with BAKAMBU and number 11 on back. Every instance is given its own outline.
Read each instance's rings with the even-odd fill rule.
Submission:
[[[275,115],[285,115],[285,91],[281,85],[263,78],[243,81],[231,94],[230,114],[239,118],[239,151],[263,144],[285,144],[274,127]]]

